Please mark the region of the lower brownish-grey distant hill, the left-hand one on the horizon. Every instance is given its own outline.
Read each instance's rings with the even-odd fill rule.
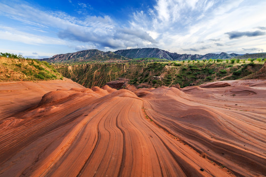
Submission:
[[[114,54],[113,52],[103,52],[97,49],[83,50],[74,53],[59,54],[48,59],[41,59],[49,62],[75,62],[75,61],[108,61],[108,60],[128,60],[127,58]]]

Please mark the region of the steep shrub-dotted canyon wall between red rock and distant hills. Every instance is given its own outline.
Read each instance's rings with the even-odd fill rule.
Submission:
[[[147,59],[144,59],[147,60]],[[144,61],[143,60],[143,61]],[[228,62],[227,62],[228,60]],[[56,65],[66,78],[91,88],[104,86],[118,78],[130,79],[129,84],[138,88],[142,83],[152,87],[179,84],[181,88],[217,80],[245,77],[258,71],[263,63],[234,59],[214,59],[210,62],[155,61],[126,63],[87,63],[80,65]],[[229,62],[230,61],[230,62]],[[235,62],[236,61],[236,62]]]

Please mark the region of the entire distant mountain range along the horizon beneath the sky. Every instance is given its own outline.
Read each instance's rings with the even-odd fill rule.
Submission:
[[[229,59],[239,56],[238,54],[206,54],[206,55],[191,55],[171,53],[158,48],[137,48],[125,49],[115,52],[103,52],[97,49],[83,50],[75,53],[59,54],[46,60],[49,62],[66,62],[66,61],[109,61],[109,60],[130,60],[137,58],[158,58],[167,60],[197,60],[197,59]]]

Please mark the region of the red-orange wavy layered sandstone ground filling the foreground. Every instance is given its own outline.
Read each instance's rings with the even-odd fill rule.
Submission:
[[[0,83],[0,177],[264,176],[265,105],[265,80]]]

